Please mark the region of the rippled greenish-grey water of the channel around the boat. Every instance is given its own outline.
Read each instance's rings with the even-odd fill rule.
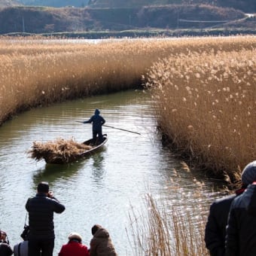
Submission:
[[[132,255],[126,234],[131,231],[128,215],[132,206],[143,208],[148,191],[155,199],[186,207],[195,200],[208,206],[221,195],[213,189],[212,181],[187,172],[162,147],[150,102],[142,91],[96,96],[33,109],[0,127],[0,228],[7,231],[11,245],[20,242],[25,203],[35,195],[40,181],[48,181],[56,198],[66,206],[65,212],[54,216],[54,255],[72,231],[81,233],[88,245],[90,228],[96,223],[108,229],[118,254]],[[106,125],[141,135],[104,127],[103,133],[108,134],[105,148],[78,163],[50,165],[29,158],[27,151],[35,141],[90,139],[91,125],[75,121],[87,120],[95,108],[101,110]],[[195,215],[199,216],[195,222],[202,221],[202,212]]]

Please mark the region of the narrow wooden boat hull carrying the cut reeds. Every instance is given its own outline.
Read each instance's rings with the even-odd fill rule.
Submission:
[[[100,143],[96,142],[93,144],[93,139],[88,139],[87,141],[83,142],[82,144],[90,146],[90,149],[84,150],[80,154],[71,154],[68,157],[52,157],[50,155],[45,155],[43,158],[46,163],[57,163],[57,164],[72,163],[96,153],[97,151],[102,149],[102,146],[105,145],[107,141],[108,141],[108,136],[104,134],[103,141]]]

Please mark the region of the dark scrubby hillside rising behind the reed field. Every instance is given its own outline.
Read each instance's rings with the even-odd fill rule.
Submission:
[[[242,11],[210,5],[166,5],[142,8],[14,7],[0,10],[0,34],[204,29],[244,17]]]

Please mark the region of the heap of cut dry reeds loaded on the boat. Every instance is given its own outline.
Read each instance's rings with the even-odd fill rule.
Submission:
[[[41,159],[62,159],[63,162],[69,162],[69,158],[74,158],[84,151],[90,150],[90,145],[84,145],[75,142],[74,139],[58,138],[49,142],[33,142],[29,154],[35,160]]]

